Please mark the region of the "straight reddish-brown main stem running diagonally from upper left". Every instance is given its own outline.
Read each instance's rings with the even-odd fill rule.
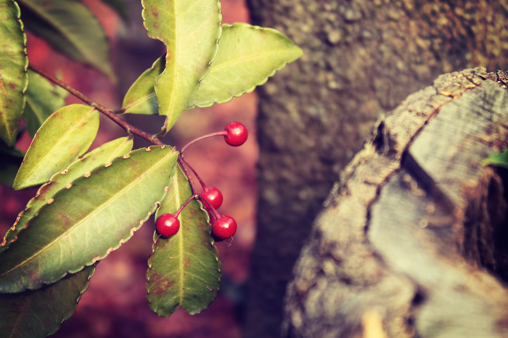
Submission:
[[[67,90],[69,93],[71,93],[72,95],[76,96],[81,101],[85,102],[86,104],[96,108],[97,110],[102,112],[102,114],[106,115],[108,118],[113,120],[117,125],[122,127],[123,130],[125,130],[126,133],[128,133],[128,134],[132,133],[132,134],[138,135],[138,136],[144,138],[145,140],[148,140],[148,141],[152,142],[155,145],[164,145],[164,143],[162,141],[160,141],[158,138],[156,138],[153,135],[151,135],[151,134],[149,134],[147,132],[144,132],[141,129],[138,129],[138,128],[130,125],[129,123],[123,121],[122,119],[120,119],[118,116],[115,115],[115,112],[113,110],[107,109],[103,105],[93,101],[91,98],[89,98],[85,94],[83,94],[80,91],[72,88],[71,86],[69,86],[65,82],[63,82],[61,80],[58,80],[57,78],[52,76],[50,73],[48,73],[44,69],[41,69],[41,68],[39,68],[37,66],[34,66],[33,64],[28,64],[28,68],[33,70],[33,71],[35,71],[36,73],[42,75],[43,77],[45,77],[46,79],[48,79],[52,83],[54,83],[54,84],[60,86],[61,88]]]

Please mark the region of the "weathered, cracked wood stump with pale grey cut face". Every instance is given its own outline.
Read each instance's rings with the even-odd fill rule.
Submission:
[[[506,171],[482,165],[507,146],[506,79],[444,74],[377,121],[302,249],[284,336],[508,336]]]

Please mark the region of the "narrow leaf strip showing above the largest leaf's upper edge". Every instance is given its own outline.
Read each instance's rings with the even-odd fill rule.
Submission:
[[[44,183],[39,188],[37,195],[28,202],[25,210],[19,213],[16,222],[12,228],[7,231],[4,240],[0,243],[0,253],[5,251],[12,242],[17,240],[18,234],[24,229],[25,224],[33,218],[39,209],[46,205],[48,200],[58,191],[78,177],[91,172],[92,169],[109,163],[119,156],[128,154],[132,149],[132,139],[132,136],[121,137],[105,143],[99,148],[93,149],[91,152],[85,154],[81,159],[71,163],[68,170],[54,174],[49,182]]]

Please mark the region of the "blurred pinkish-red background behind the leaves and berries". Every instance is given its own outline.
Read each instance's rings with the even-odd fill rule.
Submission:
[[[165,52],[165,47],[148,38],[142,25],[139,0],[125,1],[131,13],[128,24],[100,0],[83,0],[83,3],[98,16],[110,39],[118,83],[113,84],[96,70],[54,52],[29,32],[28,57],[30,63],[52,74],[61,74],[63,81],[93,100],[110,109],[118,109],[130,85]],[[243,0],[223,0],[221,3],[224,23],[249,22]],[[71,103],[82,102],[70,95],[67,104]],[[249,139],[241,147],[231,147],[222,137],[213,137],[185,151],[186,160],[206,184],[223,192],[224,203],[219,212],[234,217],[238,223],[238,232],[231,243],[227,240],[216,244],[223,265],[223,283],[213,304],[198,315],[191,316],[178,309],[169,318],[158,317],[148,308],[145,273],[155,229],[153,219],[150,219],[129,242],[100,262],[76,313],[62,324],[56,337],[241,336],[243,285],[248,276],[249,253],[256,231],[256,109],[256,94],[250,93],[225,104],[188,110],[163,139],[167,144],[181,147],[203,134],[224,130],[224,126],[232,121],[242,122],[249,130]],[[157,116],[124,118],[153,133],[160,130],[164,120]],[[120,127],[101,116],[99,133],[90,150],[122,136]],[[30,141],[25,133],[17,146],[26,151]],[[147,145],[145,140],[135,139],[135,148]],[[17,214],[36,192],[37,189],[15,192],[11,187],[0,185],[0,232],[5,233],[12,226]]]

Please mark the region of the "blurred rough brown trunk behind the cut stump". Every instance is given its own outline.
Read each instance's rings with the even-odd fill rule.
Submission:
[[[279,337],[311,223],[378,116],[438,74],[505,69],[508,12],[476,1],[248,0],[302,58],[260,87],[258,234],[244,336]]]

